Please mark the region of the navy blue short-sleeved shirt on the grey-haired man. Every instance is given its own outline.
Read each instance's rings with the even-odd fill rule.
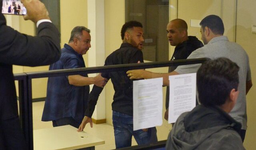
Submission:
[[[68,44],[62,48],[60,60],[50,65],[49,70],[85,67],[84,59]],[[88,77],[87,74],[82,76]],[[72,117],[82,122],[87,106],[89,86],[73,86],[68,76],[48,78],[47,96],[42,121],[52,121],[64,117]]]

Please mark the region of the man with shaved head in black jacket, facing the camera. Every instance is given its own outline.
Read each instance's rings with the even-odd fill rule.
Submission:
[[[171,60],[186,59],[194,50],[204,46],[196,36],[188,36],[188,25],[182,19],[174,19],[167,24],[167,37],[171,46],[176,46]],[[168,72],[172,72],[177,66],[170,66]],[[169,91],[166,88],[165,108],[166,112],[164,118],[168,120],[168,107],[169,107]]]

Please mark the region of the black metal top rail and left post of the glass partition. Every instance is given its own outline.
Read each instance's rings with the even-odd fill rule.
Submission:
[[[33,150],[33,118],[32,118],[32,79],[46,78],[54,76],[69,76],[76,74],[91,74],[99,72],[125,71],[144,68],[158,68],[166,66],[180,66],[187,64],[201,64],[209,58],[173,60],[165,62],[147,62],[140,64],[119,64],[110,66],[74,68],[62,70],[50,70],[42,72],[28,72],[14,74],[14,80],[18,80],[19,87],[19,110],[21,128],[25,136],[25,140],[30,150]]]

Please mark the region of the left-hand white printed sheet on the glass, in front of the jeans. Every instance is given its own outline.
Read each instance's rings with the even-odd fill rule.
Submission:
[[[133,130],[162,125],[163,78],[133,82]]]

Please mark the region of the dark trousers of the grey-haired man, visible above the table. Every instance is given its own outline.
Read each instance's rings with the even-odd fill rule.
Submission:
[[[75,128],[79,128],[80,124],[81,122],[77,122],[72,117],[65,117],[65,118],[60,118],[58,120],[52,120],[53,127],[70,125],[70,126],[74,126]]]

